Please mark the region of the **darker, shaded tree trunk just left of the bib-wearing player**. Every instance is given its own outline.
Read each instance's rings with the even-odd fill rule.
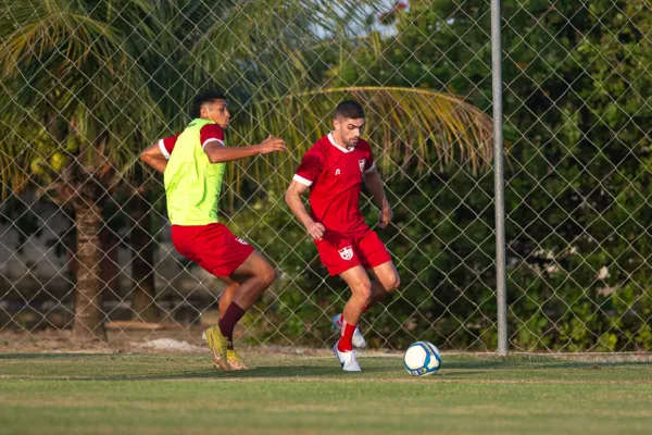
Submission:
[[[131,199],[131,278],[134,279],[131,311],[137,321],[158,318],[154,303],[154,239],[152,237],[151,206],[140,195]]]

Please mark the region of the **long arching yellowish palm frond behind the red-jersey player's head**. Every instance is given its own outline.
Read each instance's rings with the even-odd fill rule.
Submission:
[[[422,172],[455,164],[473,173],[490,167],[491,120],[463,99],[429,89],[346,87],[308,90],[242,107],[233,123],[236,142],[254,144],[274,135],[284,138],[290,149],[290,156],[259,159],[256,170],[248,171],[248,176],[259,173],[267,178],[277,173],[279,183],[286,183],[310,146],[333,129],[337,103],[349,98],[365,107],[365,135],[380,166]],[[247,164],[231,174],[234,179],[242,178]]]

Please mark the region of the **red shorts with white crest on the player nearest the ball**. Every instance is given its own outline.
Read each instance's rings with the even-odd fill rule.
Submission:
[[[349,236],[326,231],[322,240],[315,240],[322,263],[330,276],[362,265],[374,269],[391,261],[391,257],[378,235],[368,231],[362,236]]]

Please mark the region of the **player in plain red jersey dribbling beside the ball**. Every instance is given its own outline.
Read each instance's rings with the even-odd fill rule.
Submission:
[[[342,314],[333,319],[341,328],[333,350],[342,370],[359,372],[353,345],[365,347],[358,328],[363,312],[399,287],[400,279],[391,257],[378,235],[362,217],[362,182],[380,208],[379,227],[392,219],[383,181],[376,171],[369,144],[362,139],[364,110],[358,101],[338,104],[334,130],[317,140],[303,156],[286,202],[313,238],[319,258],[331,276],[340,275],[352,296]],[[301,195],[310,188],[310,214]],[[374,281],[366,271],[371,271]]]

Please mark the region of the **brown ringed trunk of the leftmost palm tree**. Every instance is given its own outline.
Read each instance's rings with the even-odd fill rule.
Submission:
[[[102,312],[101,261],[102,210],[97,204],[75,208],[77,229],[77,291],[75,294],[76,339],[106,339]]]

